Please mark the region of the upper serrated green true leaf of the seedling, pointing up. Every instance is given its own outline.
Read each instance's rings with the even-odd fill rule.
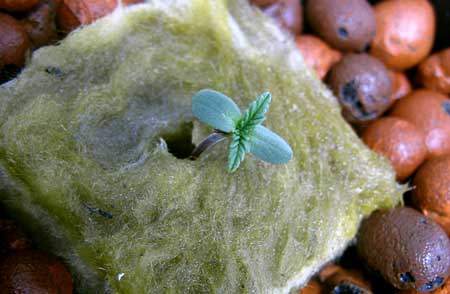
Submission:
[[[271,100],[272,95],[269,92],[262,93],[258,99],[249,105],[242,119],[239,121],[238,128],[251,131],[262,123],[266,119],[265,114],[269,109]]]

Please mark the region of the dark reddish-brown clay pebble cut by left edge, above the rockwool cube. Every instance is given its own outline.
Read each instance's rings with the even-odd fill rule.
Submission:
[[[3,65],[22,66],[30,45],[28,35],[21,24],[0,12],[0,60]]]

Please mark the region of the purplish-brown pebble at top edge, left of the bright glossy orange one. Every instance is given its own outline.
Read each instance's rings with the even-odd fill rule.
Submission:
[[[366,0],[309,0],[308,23],[328,44],[343,51],[363,51],[375,36],[375,14]]]

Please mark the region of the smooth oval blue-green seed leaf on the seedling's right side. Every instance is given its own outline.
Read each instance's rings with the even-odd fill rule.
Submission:
[[[292,158],[293,152],[289,144],[261,125],[256,126],[249,145],[251,154],[269,163],[283,164]]]

